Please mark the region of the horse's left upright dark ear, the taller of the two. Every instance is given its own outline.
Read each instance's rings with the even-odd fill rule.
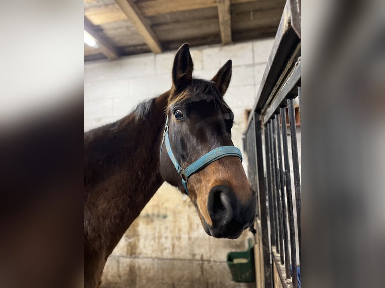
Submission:
[[[180,46],[176,52],[172,67],[172,83],[177,90],[183,89],[192,80],[192,58],[188,43]]]

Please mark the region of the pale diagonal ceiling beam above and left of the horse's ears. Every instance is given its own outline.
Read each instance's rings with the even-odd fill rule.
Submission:
[[[154,53],[162,53],[160,42],[135,3],[132,0],[115,0],[115,2],[118,4],[123,13],[126,14],[128,19],[134,24],[139,35],[143,37],[144,42],[148,45],[151,51]]]

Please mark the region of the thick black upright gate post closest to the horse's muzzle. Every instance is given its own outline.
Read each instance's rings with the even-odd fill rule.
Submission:
[[[258,191],[260,198],[261,208],[261,229],[262,229],[262,246],[263,246],[263,264],[264,264],[264,276],[265,276],[265,287],[272,287],[272,269],[270,264],[270,246],[269,246],[269,235],[267,228],[267,211],[266,211],[266,189],[263,171],[263,151],[262,151],[262,125],[259,118],[259,114],[254,114],[255,120],[255,144],[257,147],[257,171],[258,171]]]

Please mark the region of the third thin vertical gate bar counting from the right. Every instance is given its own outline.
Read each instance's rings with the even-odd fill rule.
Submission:
[[[277,144],[278,144],[278,162],[279,162],[279,174],[280,174],[280,190],[281,190],[281,204],[282,204],[282,224],[283,224],[283,244],[285,251],[285,269],[286,269],[286,278],[290,278],[290,268],[289,268],[289,259],[288,259],[288,237],[287,237],[287,213],[286,213],[286,201],[284,193],[284,172],[282,164],[282,145],[281,145],[281,129],[280,129],[280,116],[275,115],[275,122],[277,123]]]

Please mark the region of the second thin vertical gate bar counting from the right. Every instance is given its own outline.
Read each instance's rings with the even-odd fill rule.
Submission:
[[[293,99],[287,99],[288,116],[290,123],[290,134],[292,142],[292,160],[293,160],[293,176],[294,176],[294,191],[296,194],[296,211],[297,211],[297,231],[298,231],[298,247],[301,264],[301,182],[300,182],[300,166],[298,162],[297,150],[297,130],[296,117],[294,113]]]

